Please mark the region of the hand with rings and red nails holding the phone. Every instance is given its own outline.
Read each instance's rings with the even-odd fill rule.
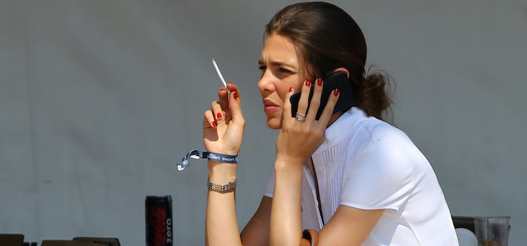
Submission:
[[[308,108],[309,91],[311,90],[311,82],[306,81],[301,86],[300,101],[297,112],[306,115],[305,120],[298,117],[291,117],[291,103],[289,98],[294,93],[293,89],[289,89],[289,93],[285,96],[284,110],[282,112],[282,129],[278,134],[276,140],[276,159],[283,160],[285,163],[303,164],[304,161],[315,153],[315,150],[325,140],[325,129],[330,122],[334,105],[339,98],[339,91],[335,89],[327,100],[327,104],[320,115],[320,119],[316,120],[318,108],[320,106],[320,94],[322,93],[323,81],[316,79],[315,86],[313,86],[313,98]]]

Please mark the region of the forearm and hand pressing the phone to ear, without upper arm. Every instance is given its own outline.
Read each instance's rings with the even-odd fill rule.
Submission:
[[[310,84],[306,81],[301,86],[297,112],[306,115],[303,119],[291,117],[292,107],[289,98],[293,93],[292,88],[289,89],[284,100],[282,127],[276,140],[275,189],[271,209],[271,245],[297,246],[300,244],[302,236],[302,169],[304,162],[323,143],[325,129],[330,122],[334,105],[339,97],[339,91],[335,90],[328,98],[320,119],[317,120],[315,116],[320,105],[323,82],[321,79],[317,79],[308,110]]]

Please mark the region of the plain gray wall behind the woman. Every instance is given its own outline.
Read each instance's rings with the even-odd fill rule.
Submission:
[[[363,28],[368,63],[396,89],[395,124],[429,158],[456,215],[512,216],[527,237],[527,3],[335,1]],[[221,86],[247,119],[240,227],[273,165],[256,61],[282,1],[0,1],[0,232],[26,240],[144,242],[145,195],[174,199],[178,245],[203,245],[202,113]]]

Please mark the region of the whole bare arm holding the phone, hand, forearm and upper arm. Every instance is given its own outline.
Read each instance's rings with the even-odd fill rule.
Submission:
[[[314,116],[320,105],[322,83],[314,86],[311,106],[305,120],[290,117],[290,91],[285,98],[282,128],[276,141],[275,189],[271,209],[271,245],[297,246],[301,241],[301,186],[305,160],[324,141],[327,125],[338,91],[327,101],[319,120]],[[308,83],[301,88],[298,112],[307,111]],[[384,209],[362,210],[340,206],[337,212],[320,231],[318,245],[360,245],[377,224]]]

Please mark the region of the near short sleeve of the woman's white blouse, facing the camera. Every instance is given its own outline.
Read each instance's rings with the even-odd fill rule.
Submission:
[[[341,205],[398,211],[415,188],[408,157],[392,143],[375,142],[357,153],[344,176]]]

